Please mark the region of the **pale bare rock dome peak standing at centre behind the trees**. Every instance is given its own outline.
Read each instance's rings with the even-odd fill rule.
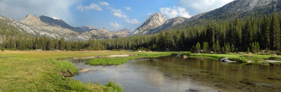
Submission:
[[[166,17],[163,14],[157,12],[155,14],[152,14],[150,17],[148,17],[141,26],[136,28],[132,33],[128,34],[128,36],[138,35],[138,34],[139,35],[148,34],[148,30],[157,28],[161,26],[163,23],[165,23],[166,21],[167,21]]]

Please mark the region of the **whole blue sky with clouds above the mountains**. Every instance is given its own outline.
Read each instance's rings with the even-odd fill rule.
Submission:
[[[0,0],[0,15],[18,21],[33,14],[62,19],[75,27],[133,31],[156,12],[167,19],[219,8],[233,0]]]

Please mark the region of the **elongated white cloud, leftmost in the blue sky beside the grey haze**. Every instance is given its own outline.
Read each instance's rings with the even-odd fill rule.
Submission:
[[[98,11],[102,11],[100,5],[95,4],[95,3],[92,3],[89,6],[78,5],[74,10],[80,10],[81,12],[83,12],[83,11],[88,10],[88,9],[95,9],[95,10],[98,10]]]

